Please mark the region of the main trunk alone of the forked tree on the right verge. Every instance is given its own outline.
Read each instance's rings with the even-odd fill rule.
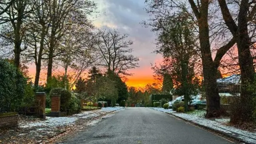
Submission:
[[[199,40],[202,54],[204,82],[206,86],[206,118],[220,116],[220,96],[218,94],[216,73],[217,69],[212,60],[208,26],[208,0],[202,0],[200,7]]]

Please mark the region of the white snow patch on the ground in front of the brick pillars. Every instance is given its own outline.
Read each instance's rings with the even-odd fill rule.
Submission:
[[[66,125],[66,124],[74,124],[75,121],[78,118],[74,118],[74,117],[57,117],[57,118],[53,118],[53,117],[46,117],[46,120],[40,121],[40,122],[30,122],[28,124],[24,124],[21,125],[21,128],[28,128],[28,127],[33,127],[33,126],[50,126],[50,127],[54,127],[54,126],[62,126],[62,125]]]

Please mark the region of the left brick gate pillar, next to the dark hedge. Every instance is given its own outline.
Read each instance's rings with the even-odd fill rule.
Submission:
[[[36,92],[36,100],[40,102],[39,106],[39,117],[45,119],[45,101],[46,101],[46,93],[45,92]]]

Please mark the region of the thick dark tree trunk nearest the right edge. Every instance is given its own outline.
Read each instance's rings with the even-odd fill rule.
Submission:
[[[248,0],[242,0],[240,5],[240,11],[238,14],[238,30],[236,43],[238,47],[238,61],[241,70],[241,103],[244,104],[242,108],[241,120],[252,120],[252,93],[247,90],[248,84],[254,81],[254,66],[253,59],[250,52],[250,38],[248,35],[247,26],[247,12],[249,9]]]

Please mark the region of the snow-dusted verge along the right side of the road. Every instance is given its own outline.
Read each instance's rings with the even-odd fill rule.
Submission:
[[[256,133],[241,130],[232,126],[226,126],[224,123],[230,121],[230,119],[228,118],[210,120],[210,119],[204,118],[202,114],[196,115],[196,114],[177,113],[172,110],[165,110],[164,108],[152,108],[152,109],[158,110],[161,112],[167,112],[169,114],[172,114],[184,120],[188,120],[200,126],[205,126],[213,130],[218,130],[230,136],[235,136],[236,138],[239,138],[244,142],[247,142],[250,144],[256,144]]]

